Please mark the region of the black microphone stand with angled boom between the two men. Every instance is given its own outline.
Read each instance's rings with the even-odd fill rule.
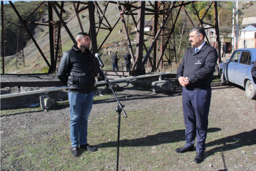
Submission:
[[[99,59],[98,59],[99,60]],[[118,106],[115,108],[116,112],[118,112],[118,132],[117,132],[117,152],[116,152],[116,170],[118,171],[118,163],[119,163],[119,144],[120,144],[120,123],[121,123],[121,111],[123,111],[123,114],[125,115],[125,118],[127,118],[127,114],[125,113],[125,110],[123,109],[123,107],[125,107],[125,105],[121,105],[120,101],[118,100],[116,93],[114,92],[112,85],[110,83],[110,81],[107,79],[107,76],[105,75],[105,73],[103,72],[103,63],[99,62],[99,68],[101,69],[101,72],[103,73],[104,77],[105,77],[105,81],[107,81],[108,85],[110,86],[110,89],[112,90],[116,101],[118,103]]]

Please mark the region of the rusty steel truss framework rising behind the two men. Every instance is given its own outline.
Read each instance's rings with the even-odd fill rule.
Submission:
[[[101,1],[102,3],[103,1]],[[16,9],[14,3],[9,1],[14,12],[18,16],[19,20],[23,24],[23,28],[29,34],[31,40],[36,45],[40,55],[42,55],[44,61],[49,66],[49,73],[56,71],[57,62],[62,56],[62,42],[61,42],[61,30],[65,29],[66,33],[69,35],[71,40],[76,43],[73,35],[77,33],[72,33],[71,29],[68,28],[66,22],[64,21],[63,15],[66,12],[64,10],[67,1],[42,1],[38,7],[35,8],[29,16],[31,16],[40,6],[47,3],[48,8],[48,21],[44,23],[29,23],[27,18],[22,18],[20,12]],[[218,49],[218,54],[220,56],[220,36],[218,29],[218,8],[217,1],[210,2],[209,8],[205,10],[203,17],[199,17],[199,12],[196,10],[194,3],[196,1],[104,1],[105,5],[99,5],[99,1],[71,1],[73,3],[73,12],[76,14],[77,22],[79,23],[81,31],[84,31],[83,22],[81,21],[81,12],[87,12],[90,18],[90,29],[89,34],[91,36],[92,53],[99,53],[104,44],[106,44],[107,39],[112,34],[114,28],[118,23],[123,24],[123,33],[125,34],[125,42],[127,42],[127,47],[129,53],[131,54],[132,60],[132,70],[133,75],[143,75],[145,73],[145,66],[151,68],[151,72],[160,71],[164,69],[166,64],[171,64],[172,62],[177,62],[177,52],[175,47],[175,24],[179,18],[180,12],[183,10],[192,27],[201,26],[204,27],[205,24],[210,25],[210,27],[204,29],[215,29],[216,31],[216,48]],[[110,24],[110,18],[105,15],[110,4],[116,5],[116,13],[120,15],[114,25]],[[191,5],[194,8],[194,12],[198,18],[198,23],[193,23],[191,16],[186,11],[186,5]],[[215,23],[214,25],[205,23],[204,18],[210,8],[214,8]],[[53,17],[55,16],[55,17]],[[56,17],[57,16],[57,17]],[[151,16],[151,20],[148,22],[153,23],[152,30],[150,32],[145,32],[145,16]],[[127,18],[131,17],[133,25],[136,26],[136,49],[132,48],[131,38],[128,30],[128,25],[131,21]],[[99,18],[99,21],[96,19]],[[86,21],[88,22],[88,21]],[[50,47],[50,62],[44,55],[42,49],[40,49],[40,44],[36,41],[31,31],[29,31],[28,25],[45,25],[49,27],[49,47]],[[3,12],[3,1],[1,1],[1,55],[3,57],[3,73],[4,73],[4,12]],[[107,30],[108,34],[105,36],[102,42],[97,42],[97,36],[101,30]],[[150,46],[147,48],[144,40],[144,36],[150,36]],[[209,43],[209,38],[206,38]],[[145,55],[146,52],[146,55]],[[144,53],[144,54],[143,54]],[[220,57],[218,62],[220,62]]]

